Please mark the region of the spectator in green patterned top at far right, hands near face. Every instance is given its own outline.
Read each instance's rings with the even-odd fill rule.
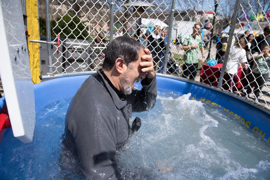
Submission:
[[[265,82],[267,82],[270,67],[270,53],[268,45],[262,45],[260,50],[261,54],[257,52],[253,54],[256,62],[252,67],[253,76],[251,74],[252,77],[249,78],[250,85],[247,86],[247,96],[249,96],[252,91],[253,85],[255,85],[253,91],[255,95],[255,101],[258,99],[260,90],[265,85]]]

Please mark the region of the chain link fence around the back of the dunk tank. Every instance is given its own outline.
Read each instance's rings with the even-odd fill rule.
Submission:
[[[270,107],[268,0],[39,3],[49,9],[50,35],[43,41],[51,49],[48,75],[97,70],[106,45],[124,35],[151,50],[157,73],[210,84]]]

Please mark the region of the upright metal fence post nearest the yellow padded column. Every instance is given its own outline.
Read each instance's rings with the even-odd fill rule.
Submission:
[[[52,49],[51,49],[51,26],[50,26],[50,4],[49,0],[45,1],[46,5],[46,35],[47,35],[47,50],[48,50],[48,75],[52,75]]]

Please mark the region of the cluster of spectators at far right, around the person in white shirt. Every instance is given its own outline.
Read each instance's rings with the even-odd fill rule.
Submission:
[[[250,97],[250,94],[253,93],[254,100],[258,100],[262,87],[268,81],[270,72],[269,34],[269,26],[266,26],[263,33],[257,36],[251,31],[245,31],[243,35],[233,36],[222,83],[223,89],[233,92],[235,82],[237,82],[237,78],[240,78],[237,73],[241,66],[245,78],[241,79],[242,88],[238,90],[242,91],[244,97]],[[225,32],[222,32],[217,38],[217,63],[223,63],[228,38],[229,36]]]

